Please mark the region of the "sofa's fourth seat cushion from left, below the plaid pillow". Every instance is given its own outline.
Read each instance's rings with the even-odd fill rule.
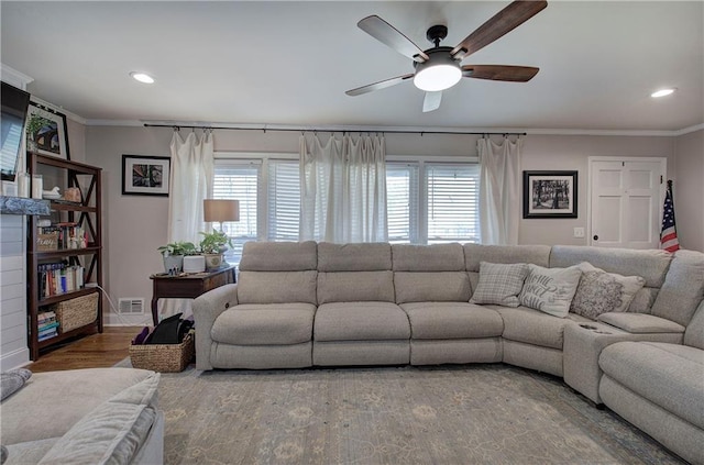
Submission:
[[[557,318],[528,307],[506,308],[492,306],[504,320],[504,339],[562,350],[564,326],[575,322],[588,322],[584,317],[570,313]]]

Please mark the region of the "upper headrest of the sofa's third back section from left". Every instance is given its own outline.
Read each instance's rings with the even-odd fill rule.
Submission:
[[[393,244],[394,272],[464,272],[461,244]]]

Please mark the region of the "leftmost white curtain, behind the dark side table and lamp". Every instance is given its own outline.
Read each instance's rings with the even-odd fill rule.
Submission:
[[[215,177],[212,133],[201,137],[195,132],[184,141],[174,131],[170,144],[172,166],[168,196],[168,242],[186,241],[198,246],[202,221],[202,200],[212,191]],[[193,313],[190,299],[160,299],[158,314],[166,318],[183,312]]]

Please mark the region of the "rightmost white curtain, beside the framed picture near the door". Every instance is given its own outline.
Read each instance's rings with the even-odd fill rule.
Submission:
[[[521,146],[521,139],[504,137],[502,144],[488,137],[477,141],[482,244],[518,244]]]

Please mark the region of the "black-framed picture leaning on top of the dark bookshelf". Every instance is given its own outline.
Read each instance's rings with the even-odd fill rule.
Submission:
[[[64,113],[30,101],[25,126],[28,151],[70,159],[68,129]]]

